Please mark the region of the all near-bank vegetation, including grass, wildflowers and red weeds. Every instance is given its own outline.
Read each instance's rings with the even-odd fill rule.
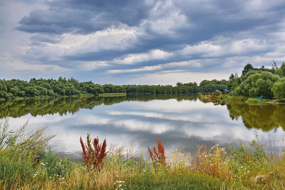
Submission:
[[[179,145],[167,152],[158,139],[148,159],[132,148],[107,152],[104,142],[87,137],[84,162],[73,163],[45,148],[53,137],[44,136],[45,128],[26,133],[26,126],[14,133],[8,117],[1,123],[0,189],[285,189],[284,138],[270,154],[256,134],[227,150],[197,145],[195,155]]]

